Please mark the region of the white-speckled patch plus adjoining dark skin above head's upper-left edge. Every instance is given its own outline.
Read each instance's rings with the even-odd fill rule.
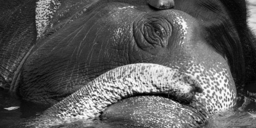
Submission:
[[[37,39],[48,37],[82,15],[99,0],[38,0],[36,6]]]

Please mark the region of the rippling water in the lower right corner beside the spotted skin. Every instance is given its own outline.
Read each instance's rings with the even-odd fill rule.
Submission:
[[[239,94],[236,106],[210,117],[206,128],[256,128],[255,106],[255,98]]]

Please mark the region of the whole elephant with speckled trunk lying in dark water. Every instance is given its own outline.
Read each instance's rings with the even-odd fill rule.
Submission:
[[[256,79],[246,0],[0,2],[0,87],[51,105],[26,126],[199,127]]]

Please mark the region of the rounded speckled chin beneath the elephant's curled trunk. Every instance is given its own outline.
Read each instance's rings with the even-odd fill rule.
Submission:
[[[192,106],[202,108],[197,110]],[[153,128],[198,127],[208,119],[202,104],[192,100],[180,104],[163,96],[145,95],[127,98],[109,106],[101,116],[106,124]]]

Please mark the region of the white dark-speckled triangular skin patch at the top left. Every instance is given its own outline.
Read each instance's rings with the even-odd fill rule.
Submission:
[[[59,8],[61,0],[38,0],[36,2],[36,28],[37,38],[43,36],[46,27],[49,25],[52,16]]]

